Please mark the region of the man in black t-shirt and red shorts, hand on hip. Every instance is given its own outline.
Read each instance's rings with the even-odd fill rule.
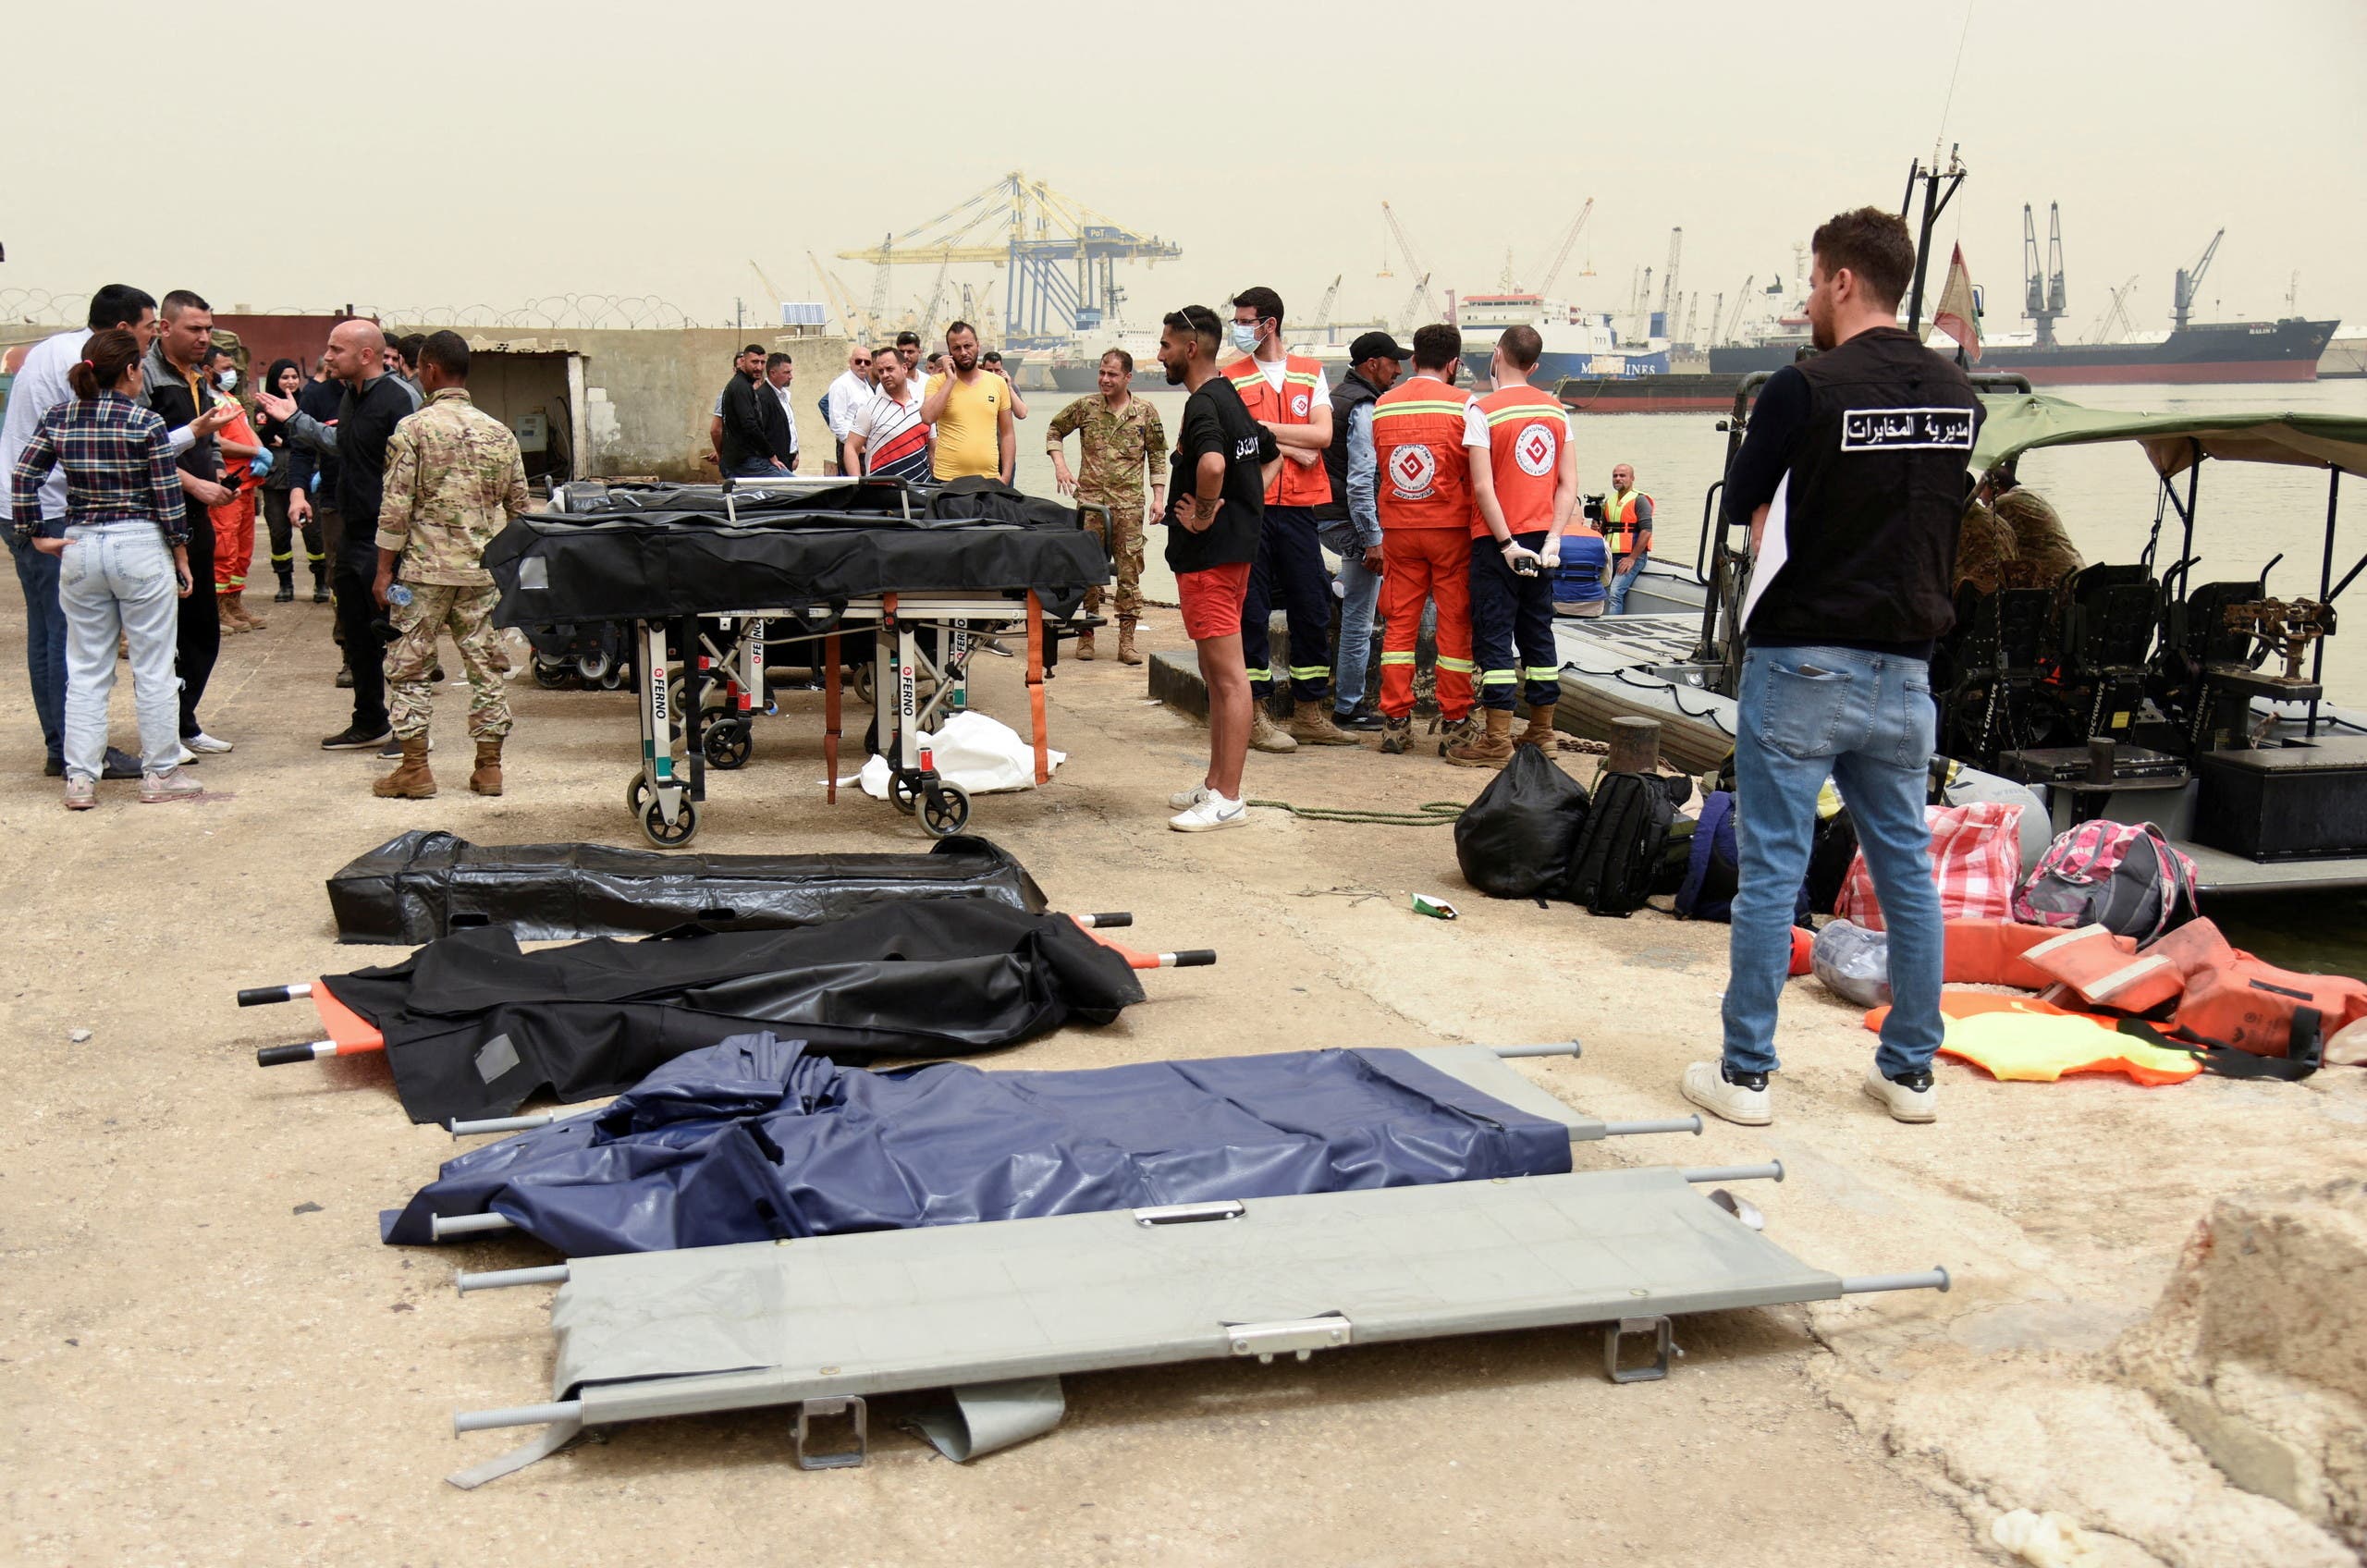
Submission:
[[[1224,327],[1207,306],[1167,313],[1160,365],[1169,386],[1191,388],[1167,478],[1167,568],[1176,573],[1184,635],[1200,649],[1207,682],[1207,777],[1169,796],[1167,827],[1207,834],[1240,827],[1240,765],[1250,753],[1250,670],[1240,661],[1240,602],[1266,521],[1266,478],[1283,452],[1273,431],[1243,407],[1217,374]]]

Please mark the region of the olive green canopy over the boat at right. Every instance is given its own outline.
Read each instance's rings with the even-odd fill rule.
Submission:
[[[1981,405],[1988,417],[1972,448],[1972,467],[1979,474],[2045,445],[2135,441],[2163,478],[2185,471],[2197,452],[2225,462],[2343,469],[2367,478],[2367,417],[2360,415],[2277,410],[2142,415],[2081,407],[2040,393],[1981,398]]]

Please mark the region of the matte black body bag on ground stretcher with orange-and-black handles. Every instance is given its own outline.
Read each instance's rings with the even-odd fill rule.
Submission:
[[[320,988],[383,1035],[402,1108],[421,1123],[509,1116],[535,1094],[618,1094],[750,1030],[795,1028],[814,1054],[869,1066],[1108,1023],[1143,1000],[1127,959],[1070,917],[982,898],[540,952],[490,926]]]

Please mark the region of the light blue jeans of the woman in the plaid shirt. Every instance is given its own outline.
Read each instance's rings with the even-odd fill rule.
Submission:
[[[180,682],[173,677],[180,583],[163,531],[144,516],[66,528],[57,592],[66,609],[66,777],[97,779],[107,765],[116,637],[130,644],[140,767],[173,772],[180,763]]]

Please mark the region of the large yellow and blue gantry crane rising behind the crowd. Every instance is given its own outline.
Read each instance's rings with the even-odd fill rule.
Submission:
[[[1051,348],[1101,327],[1117,298],[1120,261],[1174,261],[1184,246],[1139,234],[1020,171],[954,208],[888,234],[840,261],[869,261],[873,320],[885,313],[888,268],[911,263],[1004,268],[1008,348]]]

